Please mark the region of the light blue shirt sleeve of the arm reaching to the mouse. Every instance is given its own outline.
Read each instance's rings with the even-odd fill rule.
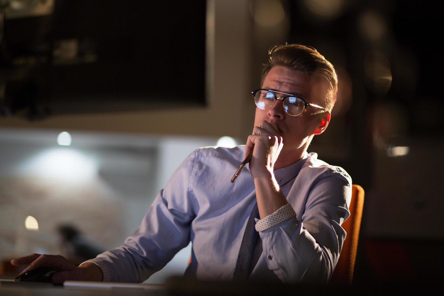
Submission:
[[[188,245],[190,223],[195,217],[189,182],[197,153],[182,162],[124,244],[91,261],[109,273],[103,280],[143,282]]]

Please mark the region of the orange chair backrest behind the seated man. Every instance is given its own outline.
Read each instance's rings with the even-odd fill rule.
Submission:
[[[332,284],[352,284],[363,207],[364,189],[359,185],[352,185],[350,217],[341,225],[347,233],[347,237],[342,245],[341,256],[330,281]]]

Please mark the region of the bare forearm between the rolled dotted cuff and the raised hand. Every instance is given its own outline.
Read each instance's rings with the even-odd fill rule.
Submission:
[[[255,176],[253,180],[261,219],[288,203],[272,172],[267,170]]]

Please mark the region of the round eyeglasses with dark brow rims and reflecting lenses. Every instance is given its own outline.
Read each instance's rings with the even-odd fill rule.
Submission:
[[[275,92],[286,96],[278,97]],[[282,100],[282,106],[284,107],[285,112],[290,116],[301,115],[302,112],[304,112],[304,109],[307,108],[307,106],[312,106],[325,111],[324,107],[307,103],[307,101],[297,95],[285,94],[279,91],[270,91],[263,88],[252,91],[251,94],[254,97],[254,103],[256,103],[256,106],[258,106],[258,108],[262,110],[268,110],[272,108],[274,106],[274,103],[276,103],[276,100],[280,99]]]

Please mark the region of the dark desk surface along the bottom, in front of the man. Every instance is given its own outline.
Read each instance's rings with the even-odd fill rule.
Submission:
[[[79,286],[75,287],[75,283]],[[0,281],[0,295],[48,295],[48,296],[102,296],[102,295],[154,295],[154,296],[269,296],[269,295],[436,295],[442,291],[442,283],[423,285],[415,283],[366,283],[352,286],[336,285],[284,285],[266,282],[232,283],[203,282],[185,278],[173,278],[166,285],[67,282],[65,286],[45,283],[15,283]],[[438,292],[439,293],[439,292]]]

